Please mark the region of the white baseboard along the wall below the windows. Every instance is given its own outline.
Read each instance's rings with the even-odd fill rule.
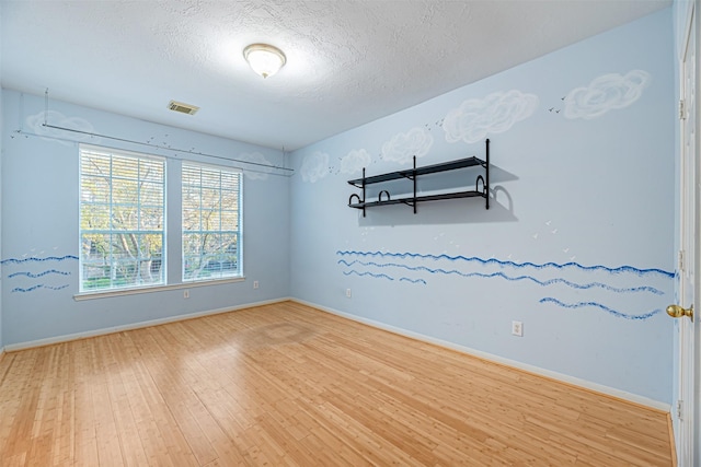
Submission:
[[[284,299],[266,300],[266,301],[263,301],[263,302],[246,303],[244,305],[235,305],[235,306],[227,306],[227,307],[223,307],[223,308],[208,310],[208,311],[205,311],[205,312],[189,313],[189,314],[186,314],[186,315],[169,316],[169,317],[160,318],[160,319],[151,319],[151,320],[148,320],[148,322],[131,323],[131,324],[128,324],[128,325],[114,326],[114,327],[108,327],[108,328],[101,328],[101,329],[95,329],[95,330],[89,330],[89,331],[85,331],[85,332],[76,332],[76,334],[69,334],[69,335],[65,335],[65,336],[49,337],[47,339],[38,339],[38,340],[32,340],[32,341],[27,341],[27,342],[11,343],[9,346],[5,346],[4,350],[8,351],[8,352],[14,352],[14,351],[18,351],[18,350],[25,350],[25,349],[31,349],[31,348],[34,348],[34,347],[50,346],[51,343],[68,342],[70,340],[87,339],[87,338],[90,338],[90,337],[104,336],[104,335],[107,335],[107,334],[122,332],[122,331],[125,331],[125,330],[140,329],[140,328],[145,328],[145,327],[149,327],[149,326],[164,325],[164,324],[168,324],[168,323],[175,323],[175,322],[182,322],[182,320],[185,320],[185,319],[199,318],[202,316],[218,315],[220,313],[235,312],[237,310],[253,308],[255,306],[262,306],[262,305],[271,305],[273,303],[287,302],[289,300],[291,300],[291,299],[284,297]]]

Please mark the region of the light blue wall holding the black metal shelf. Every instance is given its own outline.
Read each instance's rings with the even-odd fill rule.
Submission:
[[[665,10],[295,152],[291,294],[669,402],[674,65]],[[346,206],[363,165],[483,156],[487,137],[489,211]]]

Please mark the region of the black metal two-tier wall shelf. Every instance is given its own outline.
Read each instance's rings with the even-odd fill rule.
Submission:
[[[365,209],[387,206],[387,205],[406,205],[414,208],[414,214],[416,213],[416,205],[422,201],[437,201],[441,199],[455,199],[455,198],[474,198],[482,197],[485,199],[485,209],[490,209],[490,140],[485,141],[486,156],[485,161],[472,156],[467,159],[460,159],[451,162],[444,162],[440,164],[426,165],[424,167],[416,167],[416,156],[414,156],[414,167],[404,171],[389,172],[387,174],[374,175],[371,177],[365,176],[365,168],[363,168],[363,178],[356,178],[348,180],[349,185],[363,189],[363,198],[359,195],[350,195],[348,198],[348,207],[363,210],[363,217],[365,217]],[[416,178],[422,175],[436,174],[439,172],[457,171],[459,168],[467,168],[473,166],[484,167],[484,177],[478,175],[474,183],[473,190],[461,190],[452,192],[441,192],[437,195],[418,195],[416,192]],[[378,194],[377,200],[370,201],[366,199],[366,187],[368,185],[379,184],[382,182],[391,182],[398,179],[410,179],[413,182],[414,190],[413,196],[405,196],[403,198],[391,199],[388,190],[381,190]],[[482,182],[482,189],[480,189],[480,182]],[[355,202],[354,202],[355,198]]]

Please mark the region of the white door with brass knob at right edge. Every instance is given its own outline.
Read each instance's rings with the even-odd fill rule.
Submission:
[[[694,21],[696,12],[693,3],[690,9],[689,22],[686,38],[682,43],[682,57],[680,63],[681,79],[681,103],[680,103],[680,260],[678,276],[678,306],[671,306],[668,312],[670,315],[676,314],[677,332],[678,332],[678,358],[679,358],[679,393],[678,404],[676,408],[676,444],[677,457],[680,467],[692,467],[699,465],[699,456],[701,453],[696,452],[696,434],[694,434],[694,412],[698,405],[694,393],[694,366],[697,366],[697,354],[694,352],[694,320],[698,317],[690,317],[691,313],[685,313],[694,307],[697,289],[696,268],[698,265],[697,254],[701,253],[701,248],[697,246],[697,229],[699,203],[699,189],[697,187],[698,148],[697,135],[697,104],[696,104],[696,67],[697,67],[697,24]],[[683,310],[686,308],[686,310]],[[699,306],[696,306],[697,314]],[[676,311],[676,313],[674,313]],[[698,326],[698,325],[696,325]],[[701,342],[700,342],[701,343]]]

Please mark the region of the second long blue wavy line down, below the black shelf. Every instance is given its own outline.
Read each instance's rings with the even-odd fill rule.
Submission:
[[[426,271],[426,272],[430,272],[430,273],[441,273],[441,275],[458,275],[458,276],[462,276],[463,278],[472,278],[472,277],[478,277],[478,278],[486,278],[486,279],[491,279],[491,278],[502,278],[502,279],[506,279],[509,281],[519,281],[519,280],[529,280],[531,282],[535,282],[539,285],[542,287],[548,287],[548,285],[553,285],[556,283],[562,283],[564,285],[571,287],[573,289],[578,289],[578,290],[587,290],[587,289],[593,289],[593,288],[599,288],[599,289],[605,289],[608,290],[609,292],[618,292],[618,293],[635,293],[635,292],[651,292],[654,293],[655,295],[664,295],[665,292],[660,291],[659,289],[655,289],[654,287],[648,287],[648,285],[641,285],[641,287],[631,287],[631,288],[616,288],[616,287],[611,287],[611,285],[607,285],[605,283],[601,282],[589,282],[589,283],[584,283],[584,284],[579,284],[576,282],[572,282],[568,281],[566,279],[549,279],[549,280],[539,280],[536,279],[532,276],[516,276],[516,277],[512,277],[512,276],[506,276],[504,272],[493,272],[493,273],[483,273],[483,272],[462,272],[462,271],[458,271],[456,269],[450,269],[450,270],[446,270],[446,269],[433,269],[433,268],[427,268],[426,266],[406,266],[406,265],[400,265],[398,262],[384,262],[384,264],[378,264],[375,261],[358,261],[357,259],[353,260],[353,261],[346,261],[345,259],[340,259],[337,261],[337,264],[340,265],[345,265],[347,267],[352,267],[354,265],[363,265],[363,266],[376,266],[378,268],[386,268],[386,267],[394,267],[394,268],[404,268],[404,269],[409,269],[412,271]]]

